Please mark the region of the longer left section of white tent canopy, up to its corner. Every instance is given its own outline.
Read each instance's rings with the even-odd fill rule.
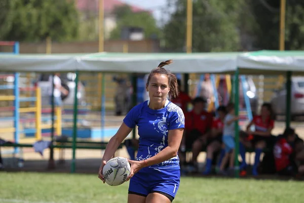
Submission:
[[[2,72],[149,73],[164,60],[174,73],[233,73],[239,53],[93,53],[0,55]]]

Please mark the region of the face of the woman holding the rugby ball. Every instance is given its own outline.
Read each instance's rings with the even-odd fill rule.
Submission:
[[[152,75],[148,85],[146,86],[146,90],[149,92],[151,103],[163,103],[170,91],[168,77],[163,74]]]

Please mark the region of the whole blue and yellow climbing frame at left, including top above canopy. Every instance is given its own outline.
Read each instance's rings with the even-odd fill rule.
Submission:
[[[1,52],[0,54],[19,54],[19,42],[0,42],[0,46],[12,47],[12,52]],[[28,76],[27,74],[27,78]],[[3,123],[2,126],[6,126],[0,128],[0,133],[14,133],[14,142],[16,144],[20,143],[20,134],[22,133],[33,133],[37,141],[41,140],[43,136],[47,136],[47,134],[42,133],[42,130],[51,127],[42,123],[49,119],[42,117],[41,89],[30,87],[29,85],[27,87],[20,87],[19,85],[19,73],[0,75],[0,102],[2,102],[0,121]],[[29,106],[21,105],[24,103],[32,103],[33,105],[31,107],[21,107]],[[34,117],[32,116],[33,114]],[[13,125],[10,121],[13,121]],[[56,109],[56,121],[56,134],[61,135],[60,108]],[[31,122],[34,123],[34,127],[27,128],[27,125],[30,125]],[[14,154],[18,153],[18,151],[18,148],[15,147]]]

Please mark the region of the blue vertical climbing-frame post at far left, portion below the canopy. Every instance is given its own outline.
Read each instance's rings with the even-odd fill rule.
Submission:
[[[19,73],[15,73],[15,80],[14,80],[14,127],[15,127],[15,133],[14,133],[14,139],[15,143],[19,143],[19,118],[20,118],[20,113],[19,113]],[[15,153],[18,153],[18,148],[15,148]]]

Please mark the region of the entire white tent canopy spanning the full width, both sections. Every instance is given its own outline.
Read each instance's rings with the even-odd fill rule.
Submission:
[[[164,60],[174,73],[304,74],[304,51],[212,53],[4,54],[0,72],[149,73]]]

